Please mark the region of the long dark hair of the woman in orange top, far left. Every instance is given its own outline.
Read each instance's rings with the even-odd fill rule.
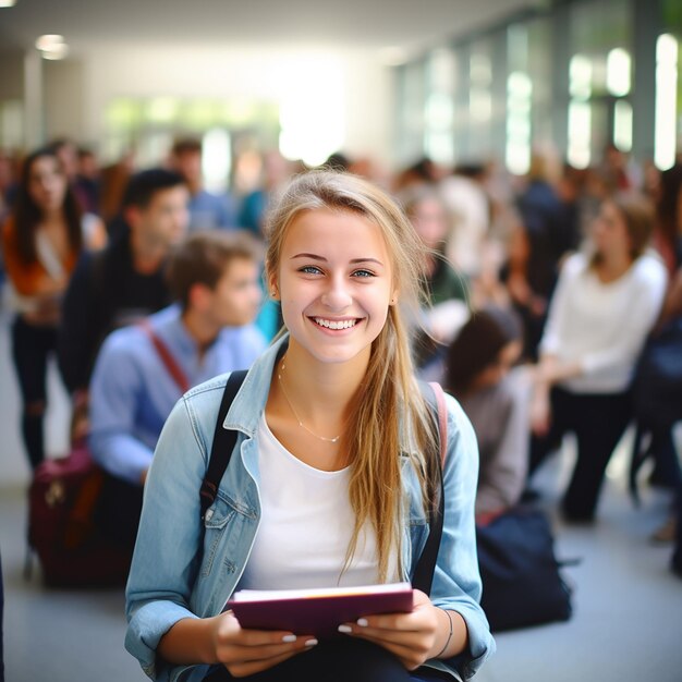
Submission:
[[[13,217],[19,256],[26,265],[35,263],[38,257],[36,252],[36,231],[42,220],[42,212],[31,196],[29,184],[33,167],[36,161],[42,158],[53,159],[59,172],[63,173],[59,158],[49,148],[36,149],[24,160]],[[68,182],[62,203],[62,212],[66,222],[69,245],[73,252],[78,253],[83,247],[82,211]]]

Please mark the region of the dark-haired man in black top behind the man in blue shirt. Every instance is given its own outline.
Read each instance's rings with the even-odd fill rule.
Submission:
[[[71,393],[84,395],[99,346],[114,328],[170,303],[163,267],[187,229],[183,179],[163,169],[133,175],[123,198],[122,229],[100,254],[86,254],[64,297],[59,366]]]

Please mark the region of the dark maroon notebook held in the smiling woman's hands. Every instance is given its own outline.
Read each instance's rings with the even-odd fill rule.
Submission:
[[[412,585],[364,585],[326,589],[243,589],[234,593],[231,609],[247,630],[285,630],[300,635],[338,635],[341,623],[377,613],[412,611]]]

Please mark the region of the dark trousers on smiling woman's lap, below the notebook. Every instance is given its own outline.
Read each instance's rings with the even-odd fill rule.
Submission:
[[[233,678],[217,667],[205,682],[436,682],[452,680],[437,670],[419,668],[410,672],[389,651],[363,640],[350,637],[320,642],[309,651],[247,678]]]

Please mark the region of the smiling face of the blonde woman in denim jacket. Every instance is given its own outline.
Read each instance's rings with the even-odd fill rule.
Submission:
[[[378,226],[350,211],[299,214],[270,275],[290,334],[322,363],[368,362],[392,300],[393,271]]]

